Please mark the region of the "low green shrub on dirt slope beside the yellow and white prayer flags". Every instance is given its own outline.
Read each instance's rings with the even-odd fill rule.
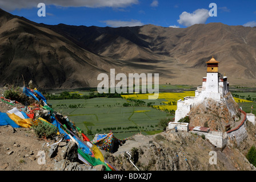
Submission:
[[[38,138],[52,138],[57,133],[57,127],[49,125],[43,122],[38,122],[37,124],[32,125],[32,129],[35,131],[35,134]]]

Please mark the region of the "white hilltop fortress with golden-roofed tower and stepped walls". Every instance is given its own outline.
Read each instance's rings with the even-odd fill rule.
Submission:
[[[221,101],[221,98],[229,92],[229,82],[227,77],[218,72],[218,63],[211,58],[207,63],[207,76],[203,77],[202,86],[195,90],[195,97],[184,97],[184,100],[177,101],[177,110],[175,111],[175,122],[186,117],[186,115],[196,104],[201,103],[207,98],[213,98],[215,101]]]

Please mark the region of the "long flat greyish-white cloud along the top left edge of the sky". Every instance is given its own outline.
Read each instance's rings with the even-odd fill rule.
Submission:
[[[0,7],[6,11],[15,9],[30,9],[37,7],[39,2],[34,0],[8,0],[0,1]],[[55,5],[61,7],[127,7],[138,4],[138,0],[44,0],[45,5]]]

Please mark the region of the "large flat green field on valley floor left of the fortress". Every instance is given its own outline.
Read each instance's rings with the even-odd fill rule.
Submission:
[[[49,104],[57,112],[69,116],[90,139],[96,133],[113,131],[119,139],[131,137],[142,131],[143,134],[159,132],[157,124],[161,118],[173,118],[174,115],[146,106],[123,107],[129,102],[122,98],[91,98],[88,100],[49,100]],[[78,105],[81,108],[69,108]],[[93,135],[88,135],[91,131]]]

